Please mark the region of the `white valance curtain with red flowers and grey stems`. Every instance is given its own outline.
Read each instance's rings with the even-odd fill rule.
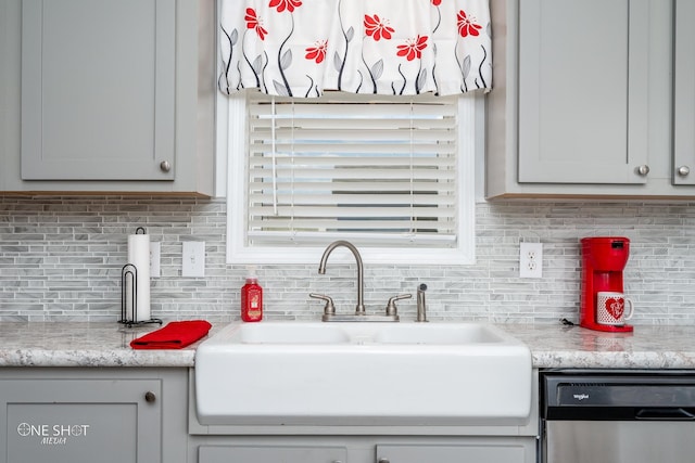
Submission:
[[[223,0],[219,89],[455,94],[492,85],[489,0]]]

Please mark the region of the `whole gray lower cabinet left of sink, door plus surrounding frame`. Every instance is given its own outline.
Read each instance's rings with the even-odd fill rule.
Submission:
[[[186,384],[184,369],[0,369],[0,462],[185,463]]]

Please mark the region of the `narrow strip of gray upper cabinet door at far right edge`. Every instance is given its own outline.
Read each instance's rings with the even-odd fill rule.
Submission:
[[[695,2],[675,0],[673,184],[695,184]]]

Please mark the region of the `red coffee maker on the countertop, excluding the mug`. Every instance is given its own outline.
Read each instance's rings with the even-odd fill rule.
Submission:
[[[596,293],[622,293],[622,269],[630,257],[630,240],[622,236],[582,239],[582,299],[580,326],[597,331],[631,332],[632,325],[607,325],[596,322]]]

